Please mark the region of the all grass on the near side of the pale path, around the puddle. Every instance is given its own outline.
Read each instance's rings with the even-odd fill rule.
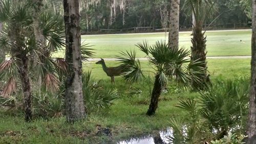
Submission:
[[[117,65],[107,62],[107,65]],[[0,110],[0,143],[114,143],[121,139],[154,133],[169,126],[171,117],[184,116],[175,107],[177,102],[187,97],[197,97],[198,93],[181,91],[174,93],[169,90],[160,97],[156,115],[148,117],[145,112],[150,102],[150,91],[146,82],[131,86],[142,90],[141,94],[130,95],[130,85],[120,77],[116,78],[116,85],[111,85],[110,78],[105,75],[100,65],[88,62],[83,65],[85,70],[92,70],[95,80],[102,80],[105,87],[118,90],[119,99],[115,101],[109,111],[91,113],[82,122],[68,125],[65,117],[52,119],[35,119],[32,123],[25,123],[22,114],[10,114]],[[146,61],[144,70],[151,70]],[[211,79],[234,79],[250,75],[250,59],[210,59],[208,68]],[[151,82],[153,84],[153,82]],[[111,136],[97,133],[98,128],[108,128]]]

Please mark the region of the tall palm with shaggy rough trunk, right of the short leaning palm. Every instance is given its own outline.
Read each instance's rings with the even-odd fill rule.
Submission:
[[[191,61],[200,60],[203,63],[202,66],[205,67],[204,73],[198,75],[200,81],[192,80],[194,89],[203,89],[210,81],[206,65],[206,37],[202,30],[205,19],[213,13],[214,4],[211,0],[186,0],[183,6],[189,13],[192,11],[195,18],[193,38],[191,39]]]

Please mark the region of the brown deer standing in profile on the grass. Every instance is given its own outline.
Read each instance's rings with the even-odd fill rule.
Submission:
[[[120,76],[124,73],[124,67],[123,66],[116,66],[116,67],[106,67],[106,64],[103,59],[100,59],[100,61],[96,62],[96,64],[101,64],[103,71],[105,71],[106,75],[111,77],[111,83],[115,83],[115,77],[114,76]]]

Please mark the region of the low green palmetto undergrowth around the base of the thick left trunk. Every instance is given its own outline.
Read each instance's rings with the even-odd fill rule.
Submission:
[[[82,74],[83,99],[88,114],[108,109],[118,98],[115,89],[104,89],[101,81],[91,78],[91,72]],[[33,93],[33,113],[40,117],[58,117],[64,113],[65,86],[60,83],[59,90],[56,92],[42,90]],[[10,95],[8,98],[0,97],[0,105],[15,110],[23,109],[23,96],[20,93]],[[15,111],[16,112],[16,111]]]

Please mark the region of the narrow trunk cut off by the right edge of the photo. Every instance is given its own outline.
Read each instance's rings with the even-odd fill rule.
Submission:
[[[251,90],[249,102],[247,143],[256,143],[256,1],[252,1],[252,36],[251,36]]]

